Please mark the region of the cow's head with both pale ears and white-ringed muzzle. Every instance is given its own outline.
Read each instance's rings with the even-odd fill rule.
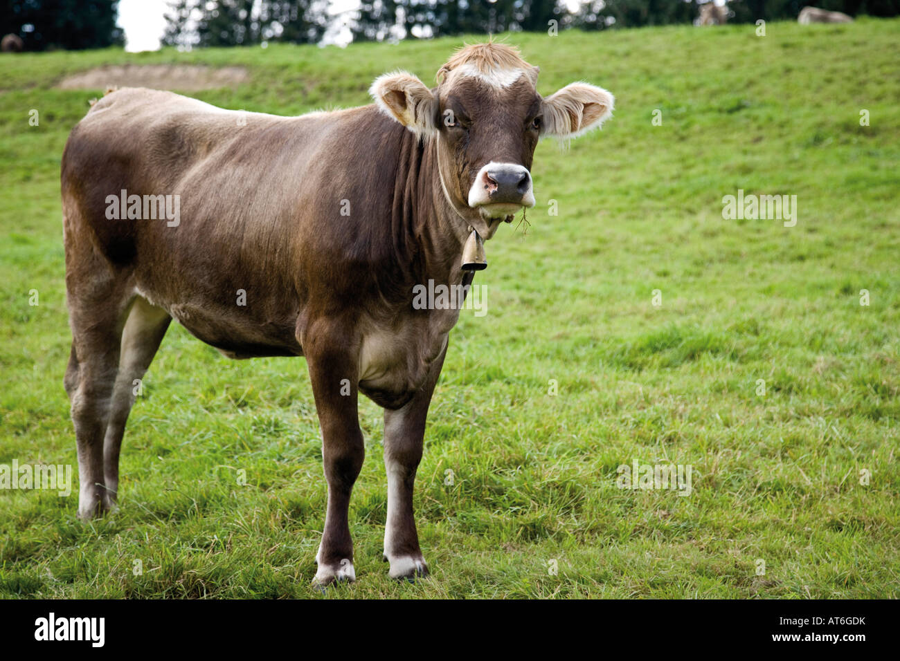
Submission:
[[[428,89],[399,71],[370,90],[389,116],[427,140],[447,200],[484,238],[516,211],[535,205],[531,161],[538,138],[574,138],[598,128],[613,95],[586,83],[542,98],[537,73],[518,50],[500,43],[458,50]]]

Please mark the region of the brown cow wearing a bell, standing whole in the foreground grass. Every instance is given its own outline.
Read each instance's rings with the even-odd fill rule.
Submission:
[[[328,481],[322,585],[355,577],[357,392],[383,406],[384,556],[391,576],[425,575],[413,481],[459,309],[417,308],[413,290],[468,287],[467,242],[535,203],[538,138],[613,108],[583,83],[544,99],[537,73],[491,43],[458,51],[433,89],[381,76],[375,103],[349,110],[277,117],[130,88],[95,103],[62,158],[79,516],[115,504],[134,380],[175,318],[229,357],[306,357]]]

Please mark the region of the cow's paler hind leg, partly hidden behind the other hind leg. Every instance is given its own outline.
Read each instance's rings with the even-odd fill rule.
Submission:
[[[113,504],[119,489],[121,438],[131,406],[141,388],[135,381],[142,379],[147,372],[171,321],[172,317],[166,310],[151,305],[141,297],[134,299],[125,321],[121,334],[119,372],[112,390],[109,422],[103,440],[103,476],[106,495]]]

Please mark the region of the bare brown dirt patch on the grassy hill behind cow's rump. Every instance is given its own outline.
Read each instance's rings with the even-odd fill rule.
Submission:
[[[64,90],[104,90],[107,87],[151,87],[157,90],[195,92],[217,87],[233,87],[247,82],[244,67],[201,67],[199,65],[126,64],[97,67],[66,76],[57,85]]]

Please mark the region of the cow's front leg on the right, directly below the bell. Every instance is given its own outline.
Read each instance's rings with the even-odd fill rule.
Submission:
[[[388,515],[384,523],[384,558],[391,563],[392,578],[428,576],[419,549],[419,535],[412,508],[416,470],[422,459],[422,440],[428,405],[446,355],[432,363],[428,380],[410,402],[396,411],[384,411],[384,469],[388,479]]]

